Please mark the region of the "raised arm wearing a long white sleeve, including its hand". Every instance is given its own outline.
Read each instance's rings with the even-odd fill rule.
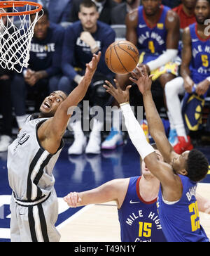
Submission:
[[[113,85],[106,81],[107,85],[104,85],[106,91],[109,92],[116,101],[120,104],[120,108],[123,110],[123,115],[125,117],[125,125],[127,127],[127,132],[132,140],[132,143],[137,148],[139,155],[144,160],[148,169],[157,177],[162,184],[162,193],[165,200],[174,201],[179,200],[181,197],[180,194],[180,179],[177,175],[174,174],[172,166],[168,165],[165,162],[162,162],[158,159],[157,154],[155,153],[154,148],[146,140],[141,125],[137,121],[132,108],[129,103],[129,89],[127,87],[125,91],[120,89],[120,85],[116,81],[116,88]],[[150,83],[150,81],[146,81]]]

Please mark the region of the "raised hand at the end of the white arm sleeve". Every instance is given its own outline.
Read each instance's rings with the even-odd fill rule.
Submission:
[[[113,87],[111,82],[109,82],[109,81],[105,81],[105,82],[106,82],[107,85],[104,84],[104,88],[106,89],[106,91],[109,94],[111,94],[114,98],[116,98],[116,101],[118,101],[119,104],[129,101],[129,99],[130,99],[129,90],[132,87],[131,85],[127,86],[125,91],[123,91],[120,88],[120,84],[118,83],[118,80],[114,79],[114,82],[116,84],[116,88]]]

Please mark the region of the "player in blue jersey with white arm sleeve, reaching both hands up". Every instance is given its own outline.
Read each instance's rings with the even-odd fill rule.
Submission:
[[[160,180],[158,196],[158,214],[165,238],[168,242],[209,242],[204,229],[200,225],[197,207],[197,182],[206,177],[209,162],[204,154],[193,149],[181,155],[175,153],[165,135],[162,120],[158,114],[151,94],[151,76],[146,67],[132,72],[130,80],[137,84],[143,95],[146,119],[151,136],[155,140],[158,150],[165,162],[161,162],[154,148],[146,140],[143,129],[132,112],[129,103],[129,88],[120,90],[118,82],[116,88],[108,81],[104,85],[106,90],[116,98],[123,110],[125,125],[132,143],[144,160],[146,167]]]

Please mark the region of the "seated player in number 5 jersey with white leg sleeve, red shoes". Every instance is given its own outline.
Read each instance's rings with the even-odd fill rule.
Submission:
[[[171,129],[174,130],[175,137],[171,143],[174,151],[179,154],[193,148],[187,131],[197,131],[200,128],[204,99],[209,91],[210,42],[209,36],[204,33],[204,21],[210,18],[209,10],[208,0],[197,0],[195,6],[197,23],[186,27],[183,32],[181,77],[176,77],[165,87],[167,106],[172,117]],[[183,110],[181,110],[179,94],[185,94]]]

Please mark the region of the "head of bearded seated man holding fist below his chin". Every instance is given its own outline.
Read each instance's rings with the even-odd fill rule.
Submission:
[[[78,18],[82,23],[83,30],[91,32],[97,27],[97,20],[99,18],[99,12],[97,6],[91,0],[83,0],[80,4],[80,11]]]

